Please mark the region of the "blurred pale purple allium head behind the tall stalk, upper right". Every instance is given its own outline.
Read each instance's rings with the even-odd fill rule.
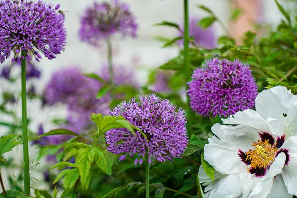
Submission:
[[[212,49],[217,46],[217,41],[215,37],[215,31],[212,26],[203,29],[198,26],[197,23],[200,18],[192,17],[189,19],[189,36],[193,38],[195,45],[201,46],[206,49]],[[182,32],[178,33],[178,36],[183,36],[184,27],[183,24],[180,25]],[[183,44],[184,40],[179,40],[177,43]]]

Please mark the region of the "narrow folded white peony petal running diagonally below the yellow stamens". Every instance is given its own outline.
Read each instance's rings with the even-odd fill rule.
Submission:
[[[256,184],[248,198],[266,198],[272,189],[274,176],[282,173],[285,161],[285,153],[280,153],[270,165],[265,178]]]

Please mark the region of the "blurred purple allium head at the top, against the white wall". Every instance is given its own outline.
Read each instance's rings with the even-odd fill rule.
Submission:
[[[93,6],[85,10],[80,23],[80,39],[95,46],[115,34],[136,37],[135,17],[129,6],[118,0],[111,3],[94,2]]]

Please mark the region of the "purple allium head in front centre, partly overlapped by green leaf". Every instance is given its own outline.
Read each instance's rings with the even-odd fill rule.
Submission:
[[[110,115],[123,116],[131,124],[146,134],[145,137],[136,132],[133,135],[124,128],[111,129],[106,132],[107,150],[113,154],[123,154],[122,161],[127,155],[137,155],[135,164],[142,164],[148,148],[149,162],[156,158],[162,162],[172,157],[180,157],[188,144],[185,111],[181,108],[176,112],[176,106],[168,99],[161,99],[155,94],[140,96],[140,101],[131,99],[123,101],[115,107]]]

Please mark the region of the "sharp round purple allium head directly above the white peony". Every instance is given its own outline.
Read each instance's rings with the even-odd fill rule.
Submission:
[[[258,94],[249,65],[213,58],[197,68],[188,83],[191,108],[205,116],[227,117],[255,106]]]

